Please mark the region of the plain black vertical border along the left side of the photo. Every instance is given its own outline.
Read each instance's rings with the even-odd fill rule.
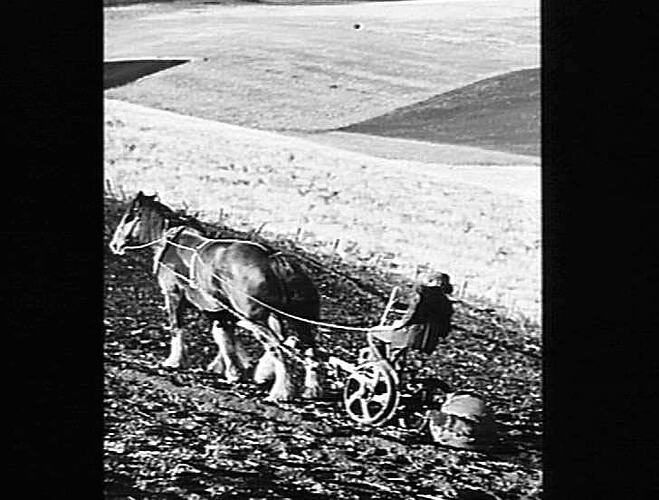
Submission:
[[[102,498],[102,5],[3,19],[5,478],[22,498]]]

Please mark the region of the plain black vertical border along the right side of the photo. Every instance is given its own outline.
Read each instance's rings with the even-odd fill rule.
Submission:
[[[659,492],[648,432],[656,424],[646,417],[656,400],[648,342],[657,325],[647,232],[659,213],[652,139],[643,134],[651,125],[647,13],[543,3],[548,498]]]

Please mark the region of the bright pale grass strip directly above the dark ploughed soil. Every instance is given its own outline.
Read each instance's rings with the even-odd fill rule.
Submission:
[[[537,319],[540,203],[469,169],[391,161],[302,139],[106,101],[105,173],[132,194],[264,235],[294,235],[413,276],[449,272],[467,292]],[[490,167],[491,168],[491,167]],[[524,180],[517,167],[517,182]],[[535,170],[526,182],[539,186]],[[533,194],[532,189],[527,189]]]

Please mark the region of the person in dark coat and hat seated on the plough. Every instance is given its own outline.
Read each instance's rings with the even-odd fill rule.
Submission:
[[[432,354],[451,328],[453,305],[446,295],[453,292],[453,285],[448,274],[439,273],[420,280],[414,291],[415,295],[401,319],[391,326],[373,327],[369,335],[374,340],[390,344],[392,350],[409,348]],[[380,351],[381,348],[378,347]]]

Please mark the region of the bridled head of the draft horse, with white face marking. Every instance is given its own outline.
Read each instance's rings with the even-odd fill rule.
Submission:
[[[110,250],[113,253],[122,255],[126,247],[148,244],[162,237],[171,210],[157,198],[157,194],[137,193],[112,235]]]

